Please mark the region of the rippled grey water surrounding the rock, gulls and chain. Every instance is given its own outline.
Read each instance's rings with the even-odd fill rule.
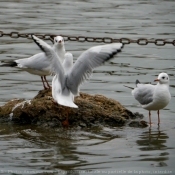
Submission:
[[[24,0],[0,1],[0,30],[92,37],[174,39],[174,0]],[[49,44],[51,42],[47,41]],[[99,43],[68,41],[76,58]],[[0,60],[40,52],[32,40],[0,38]],[[0,124],[0,174],[175,174],[175,47],[125,45],[113,60],[97,68],[81,91],[118,100],[148,121],[148,111],[131,96],[135,80],[154,83],[160,72],[170,76],[169,105],[152,112],[153,126],[48,130]],[[48,77],[51,82],[52,77]],[[13,98],[33,98],[39,76],[15,68],[0,69],[0,105]]]

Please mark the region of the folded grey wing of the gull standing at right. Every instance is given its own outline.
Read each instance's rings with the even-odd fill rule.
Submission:
[[[141,105],[147,105],[153,101],[154,89],[151,84],[137,84],[132,94]]]

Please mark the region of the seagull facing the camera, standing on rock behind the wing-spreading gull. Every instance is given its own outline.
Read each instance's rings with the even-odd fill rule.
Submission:
[[[58,54],[59,57],[57,58],[63,62],[65,57],[64,39],[62,36],[56,36],[53,42],[54,44],[52,49]],[[38,53],[29,58],[3,62],[5,63],[1,65],[3,67],[17,67],[31,74],[41,76],[44,89],[50,88],[50,85],[46,79],[46,76],[51,74],[50,60],[47,58],[47,55],[44,52]],[[47,86],[45,85],[44,81],[47,83]]]

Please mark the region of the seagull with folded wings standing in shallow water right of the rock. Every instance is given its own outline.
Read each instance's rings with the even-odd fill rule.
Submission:
[[[146,110],[149,110],[149,123],[151,125],[151,111],[156,110],[158,114],[158,125],[160,124],[159,110],[166,107],[171,99],[169,92],[169,76],[160,73],[154,81],[157,85],[140,84],[136,80],[136,88],[132,90],[132,95]]]

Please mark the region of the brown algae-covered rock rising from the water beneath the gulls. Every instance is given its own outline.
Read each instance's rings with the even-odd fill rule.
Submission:
[[[75,103],[78,108],[69,108],[70,127],[123,126],[133,120],[139,122],[136,127],[147,126],[146,122],[135,120],[142,118],[139,114],[133,114],[119,102],[102,95],[80,93],[75,98]],[[41,90],[31,100],[13,99],[1,106],[0,121],[62,127],[67,109],[68,107],[52,102],[51,90]]]

